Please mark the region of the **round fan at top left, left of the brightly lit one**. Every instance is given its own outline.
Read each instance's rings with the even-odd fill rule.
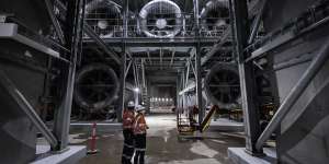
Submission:
[[[121,10],[110,0],[93,0],[86,5],[86,21],[100,37],[113,37],[121,30]]]

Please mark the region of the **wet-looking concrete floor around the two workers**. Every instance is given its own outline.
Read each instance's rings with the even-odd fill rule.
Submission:
[[[209,131],[200,138],[179,140],[175,115],[157,114],[146,117],[150,129],[147,133],[147,164],[230,164],[228,147],[245,147],[242,136]],[[88,133],[72,131],[71,144],[89,144]],[[81,164],[120,164],[123,147],[122,131],[98,132],[100,153],[88,155]]]

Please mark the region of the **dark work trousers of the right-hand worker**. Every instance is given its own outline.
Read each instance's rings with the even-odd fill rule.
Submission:
[[[135,134],[134,164],[144,164],[145,151],[146,151],[146,133]]]

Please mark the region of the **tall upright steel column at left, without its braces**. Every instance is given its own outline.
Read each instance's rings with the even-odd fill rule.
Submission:
[[[72,106],[72,95],[75,87],[75,78],[76,78],[76,62],[79,49],[79,43],[81,42],[81,33],[83,15],[80,12],[80,9],[84,10],[82,7],[83,0],[70,0],[68,1],[67,15],[66,15],[66,32],[65,39],[67,48],[70,49],[70,61],[71,65],[65,67],[61,71],[65,83],[65,94],[64,101],[61,102],[58,110],[55,115],[54,122],[54,133],[58,139],[57,148],[52,148],[53,150],[60,151],[67,149],[68,145],[68,136],[70,127],[70,115]]]

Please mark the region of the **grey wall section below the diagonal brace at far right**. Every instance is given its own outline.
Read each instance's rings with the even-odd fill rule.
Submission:
[[[329,162],[329,60],[281,124],[282,163]]]

